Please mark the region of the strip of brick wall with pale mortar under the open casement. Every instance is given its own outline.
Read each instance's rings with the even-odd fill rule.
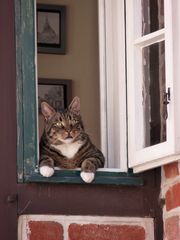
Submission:
[[[163,167],[162,198],[164,240],[180,239],[180,163],[175,162]]]

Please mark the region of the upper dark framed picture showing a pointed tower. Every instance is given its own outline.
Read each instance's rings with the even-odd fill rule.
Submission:
[[[65,6],[37,4],[39,53],[65,54],[65,16]]]

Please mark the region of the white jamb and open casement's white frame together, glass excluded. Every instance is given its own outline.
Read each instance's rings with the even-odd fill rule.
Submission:
[[[147,36],[134,39],[132,33],[135,1],[126,0],[127,32],[127,98],[126,113],[126,55],[124,1],[99,0],[99,53],[100,53],[100,103],[101,143],[106,159],[116,161],[119,171],[127,171],[128,164],[134,172],[141,172],[180,159],[180,3],[165,0],[165,28]],[[167,141],[152,147],[135,150],[134,134],[134,47],[150,45],[165,39],[166,87],[171,88],[168,106]],[[178,91],[179,90],[179,91]],[[128,115],[128,140],[127,119]],[[128,141],[128,147],[127,147]],[[115,167],[116,164],[114,163]],[[109,167],[109,165],[107,165]],[[110,169],[112,170],[112,169]]]

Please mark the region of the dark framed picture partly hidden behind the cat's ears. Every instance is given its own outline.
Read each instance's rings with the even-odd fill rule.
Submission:
[[[72,81],[63,79],[38,79],[38,104],[41,114],[41,102],[49,103],[55,110],[66,109],[71,102]]]

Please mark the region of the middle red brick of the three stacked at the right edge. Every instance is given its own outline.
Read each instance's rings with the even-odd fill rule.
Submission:
[[[180,183],[173,185],[166,193],[166,210],[180,206]]]

